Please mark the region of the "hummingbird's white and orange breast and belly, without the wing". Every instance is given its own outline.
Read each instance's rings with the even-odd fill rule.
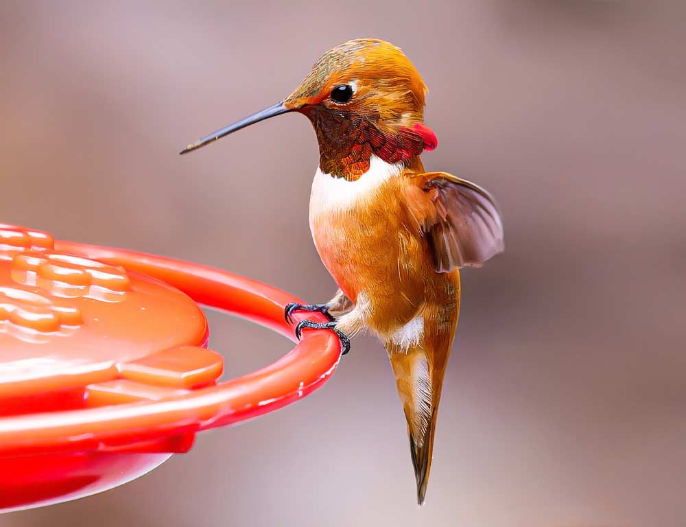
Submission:
[[[402,172],[402,165],[375,156],[355,181],[318,170],[310,200],[310,227],[324,266],[351,301],[364,293],[372,325],[389,328],[415,316],[436,275],[421,225],[428,198]],[[423,204],[407,202],[413,187]]]

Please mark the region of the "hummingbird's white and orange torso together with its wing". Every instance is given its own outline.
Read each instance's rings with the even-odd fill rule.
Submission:
[[[447,283],[445,274],[480,266],[503,248],[500,216],[484,189],[375,156],[355,181],[318,169],[309,221],[324,266],[346,296],[356,302],[364,292],[370,312],[389,316],[390,325],[412,318]]]

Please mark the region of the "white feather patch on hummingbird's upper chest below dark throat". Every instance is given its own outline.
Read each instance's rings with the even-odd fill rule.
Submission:
[[[371,156],[368,171],[355,181],[333,178],[317,168],[309,200],[310,219],[320,213],[353,207],[360,199],[372,196],[382,183],[398,176],[402,169],[401,163],[386,163],[377,156]]]

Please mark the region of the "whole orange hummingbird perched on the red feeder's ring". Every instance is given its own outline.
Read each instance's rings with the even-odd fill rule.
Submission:
[[[447,172],[425,171],[421,154],[438,145],[424,124],[427,86],[398,47],[376,38],[327,51],[286,97],[180,152],[186,154],[283,113],[305,115],[319,143],[309,226],[338,285],[322,312],[342,353],[370,331],[383,342],[407,421],[417,501],[425,501],[434,432],[460,309],[459,269],[481,266],[504,249],[495,201]]]

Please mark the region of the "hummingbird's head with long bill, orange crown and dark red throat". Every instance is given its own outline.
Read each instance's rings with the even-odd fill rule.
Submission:
[[[355,180],[372,156],[410,165],[438,141],[423,124],[427,87],[412,62],[394,45],[374,38],[350,40],[327,51],[282,102],[189,145],[181,153],[252,123],[287,112],[311,121],[320,169]]]

